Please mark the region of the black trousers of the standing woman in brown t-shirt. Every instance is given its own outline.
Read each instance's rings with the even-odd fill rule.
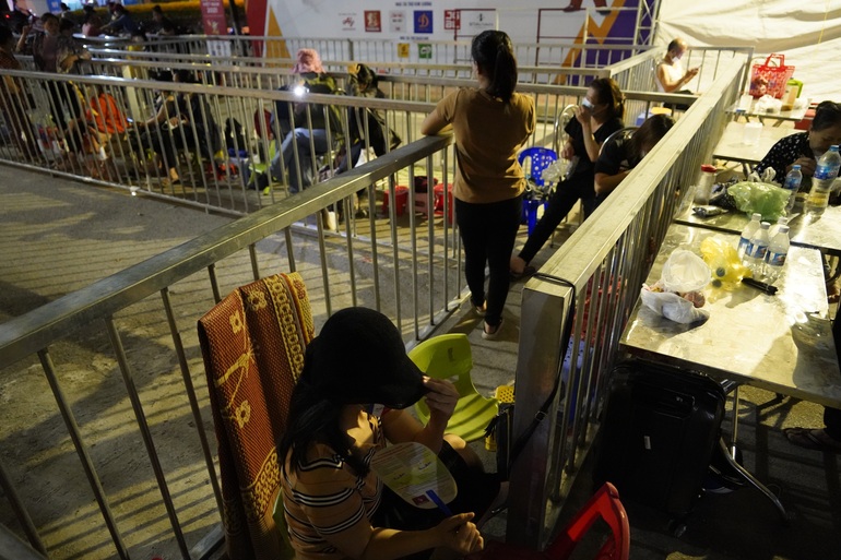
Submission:
[[[471,291],[471,301],[474,306],[487,301],[485,322],[489,325],[498,325],[502,321],[510,282],[511,252],[514,250],[522,208],[522,195],[490,204],[472,204],[455,199],[455,223],[464,245],[464,276]],[[490,270],[487,295],[486,263]]]

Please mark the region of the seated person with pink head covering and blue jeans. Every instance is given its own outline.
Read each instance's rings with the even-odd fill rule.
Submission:
[[[321,58],[313,49],[298,50],[297,62],[293,72],[301,74],[304,81],[300,85],[309,93],[334,94],[337,91],[335,81],[324,72]],[[309,111],[309,121],[307,120],[307,111]],[[289,174],[289,192],[296,193],[313,182],[312,158],[330,151],[328,127],[330,127],[330,134],[334,139],[341,133],[341,126],[335,108],[328,106],[325,111],[320,104],[297,104],[292,118],[295,128],[283,139],[281,148],[272,158],[270,171],[272,177],[283,180],[283,174],[286,170]],[[309,123],[311,123],[311,129],[308,127]],[[296,165],[292,165],[295,160],[296,145],[298,160],[295,162]],[[315,147],[315,153],[311,153],[311,146]],[[281,166],[281,162],[283,162],[283,166]]]

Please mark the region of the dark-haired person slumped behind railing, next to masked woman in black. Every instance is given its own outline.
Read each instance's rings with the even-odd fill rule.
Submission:
[[[602,153],[595,162],[596,205],[625,180],[674,124],[672,117],[654,115],[645,119],[630,138],[617,135],[602,146]]]

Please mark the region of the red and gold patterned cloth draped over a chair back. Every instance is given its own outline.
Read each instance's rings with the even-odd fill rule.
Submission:
[[[241,286],[199,320],[229,558],[276,560],[288,551],[272,509],[281,489],[275,442],[313,337],[298,273]]]

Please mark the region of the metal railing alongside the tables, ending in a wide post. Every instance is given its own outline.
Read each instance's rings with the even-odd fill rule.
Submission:
[[[721,68],[708,92],[523,290],[514,434],[532,421],[555,379],[562,384],[514,464],[509,540],[542,547],[552,535],[559,507],[597,432],[619,336],[639,288],[680,196],[711,158],[726,109],[738,97],[744,65],[744,57],[736,56]],[[564,348],[569,321],[572,336]]]

